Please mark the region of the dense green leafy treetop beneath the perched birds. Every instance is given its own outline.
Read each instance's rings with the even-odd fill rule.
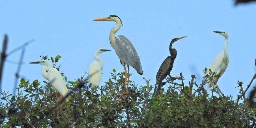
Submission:
[[[72,98],[59,104],[59,119],[57,109],[47,114],[56,103],[50,83],[20,79],[16,96],[5,91],[1,93],[2,127],[240,128],[255,125],[256,111],[247,101],[236,104],[227,96],[209,98],[209,94],[190,89],[193,79],[188,86],[183,84],[184,87],[171,81],[165,85],[168,89],[162,88],[158,96],[152,96],[152,85],[139,86],[130,80],[128,94],[119,99],[123,93],[124,74],[117,73],[115,69],[110,74],[108,82],[97,90],[87,88],[90,86],[87,77],[68,81],[64,76],[69,90],[72,90]],[[214,74],[211,72],[210,76]],[[76,88],[81,82],[84,87]]]

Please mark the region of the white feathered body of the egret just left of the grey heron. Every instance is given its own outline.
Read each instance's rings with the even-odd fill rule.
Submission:
[[[89,80],[91,82],[91,87],[96,88],[101,79],[101,67],[98,61],[93,61],[89,67]]]

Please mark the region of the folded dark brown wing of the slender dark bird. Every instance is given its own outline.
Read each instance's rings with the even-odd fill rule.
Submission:
[[[163,62],[156,74],[156,83],[161,82],[170,73],[169,67],[171,65],[171,56],[168,56]]]

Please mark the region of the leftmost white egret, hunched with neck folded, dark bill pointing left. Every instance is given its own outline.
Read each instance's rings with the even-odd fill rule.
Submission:
[[[41,60],[41,61],[30,62],[30,63],[37,63],[39,65],[44,65],[42,68],[42,75],[60,93],[60,99],[63,96],[65,97],[69,93],[68,88],[61,74],[56,68],[53,67],[52,63],[49,60]],[[70,97],[71,96],[68,96],[65,100],[69,101]],[[58,99],[57,99],[57,102],[58,102]]]

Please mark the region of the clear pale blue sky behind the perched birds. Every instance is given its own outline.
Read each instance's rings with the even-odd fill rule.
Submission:
[[[110,49],[101,53],[104,67],[101,85],[111,77],[115,68],[123,71],[119,59],[109,42],[109,32],[114,22],[95,22],[93,19],[117,15],[123,27],[116,35],[125,35],[140,56],[144,74],[133,68],[130,77],[136,84],[145,86],[142,79],[151,79],[155,85],[156,73],[169,53],[173,38],[188,36],[173,44],[177,57],[171,71],[172,76],[182,72],[185,84],[196,74],[201,83],[203,69],[209,67],[215,56],[224,49],[225,38],[213,31],[227,30],[229,33],[229,65],[219,79],[218,85],[225,95],[236,99],[239,92],[237,82],[244,88],[255,73],[256,3],[234,5],[233,0],[163,0],[163,1],[0,1],[0,42],[9,35],[7,53],[26,41],[35,41],[26,47],[20,75],[31,82],[41,75],[41,65],[29,64],[39,61],[39,55],[57,56],[61,59],[60,72],[68,81],[88,72],[96,49]],[[2,77],[3,90],[12,92],[15,72],[21,51],[8,56]],[[175,81],[179,82],[179,81]],[[179,82],[181,83],[181,82]],[[166,88],[166,86],[165,86]]]

